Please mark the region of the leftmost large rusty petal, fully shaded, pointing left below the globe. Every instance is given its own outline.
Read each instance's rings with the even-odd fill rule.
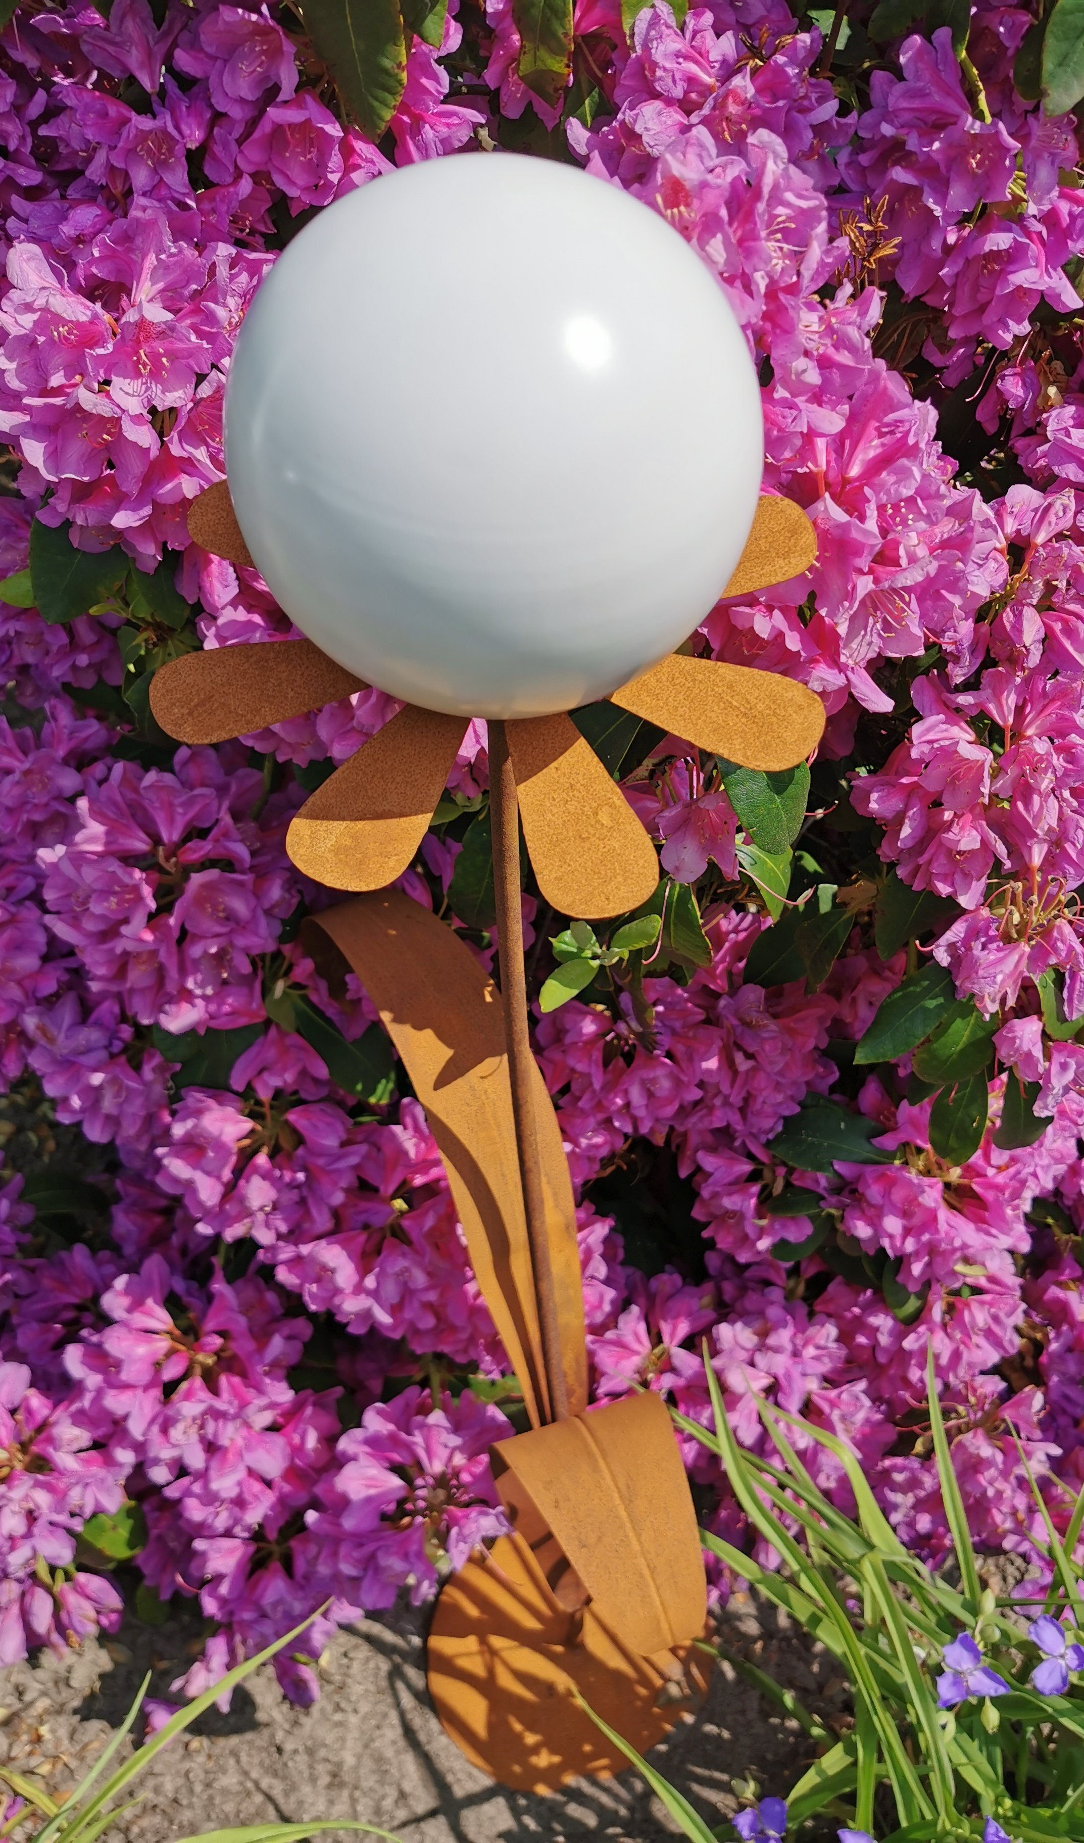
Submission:
[[[151,680],[151,711],[179,743],[225,743],[363,691],[312,640],[183,652]]]

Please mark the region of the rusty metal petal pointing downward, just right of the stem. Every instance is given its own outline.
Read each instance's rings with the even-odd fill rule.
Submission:
[[[658,885],[654,846],[571,717],[507,724],[527,853],[548,903],[597,920],[638,909]]]

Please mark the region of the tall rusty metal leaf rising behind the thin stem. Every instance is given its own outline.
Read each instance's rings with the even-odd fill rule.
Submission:
[[[470,1262],[535,1426],[549,1399],[500,995],[470,949],[402,890],[380,890],[304,923],[306,951],[328,942],[356,971],[402,1056],[452,1185]],[[323,953],[321,953],[323,944]],[[326,966],[334,977],[336,966]],[[575,1203],[553,1102],[536,1069],[535,1119],[553,1283],[560,1301],[566,1388],[586,1404],[583,1283]]]

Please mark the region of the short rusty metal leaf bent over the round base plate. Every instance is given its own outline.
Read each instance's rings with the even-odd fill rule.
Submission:
[[[549,1526],[607,1626],[645,1657],[699,1638],[708,1589],[697,1513],[660,1395],[629,1395],[501,1439],[498,1491]]]

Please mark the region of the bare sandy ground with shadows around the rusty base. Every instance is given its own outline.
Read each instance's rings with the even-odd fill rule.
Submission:
[[[730,1607],[725,1635],[820,1712],[842,1707],[830,1661],[774,1614],[758,1624],[748,1598]],[[129,1618],[116,1640],[0,1673],[0,1764],[65,1791],[120,1725],[144,1673],[151,1672],[153,1696],[168,1696],[201,1642],[192,1614],[160,1627]],[[208,1712],[159,1755],[138,1780],[140,1804],[109,1832],[111,1843],[175,1843],[225,1825],[304,1817],[361,1819],[404,1843],[588,1836],[662,1843],[675,1834],[636,1773],[579,1780],[538,1799],[505,1791],[468,1766],[430,1707],[424,1614],[409,1607],[339,1633],[324,1653],[321,1690],[313,1708],[293,1708],[271,1670],[249,1679],[227,1714]],[[708,1823],[719,1823],[736,1808],[732,1780],[752,1777],[763,1793],[785,1791],[809,1755],[800,1727],[723,1666],[701,1716],[653,1758]],[[347,1832],[332,1836],[339,1843]]]

